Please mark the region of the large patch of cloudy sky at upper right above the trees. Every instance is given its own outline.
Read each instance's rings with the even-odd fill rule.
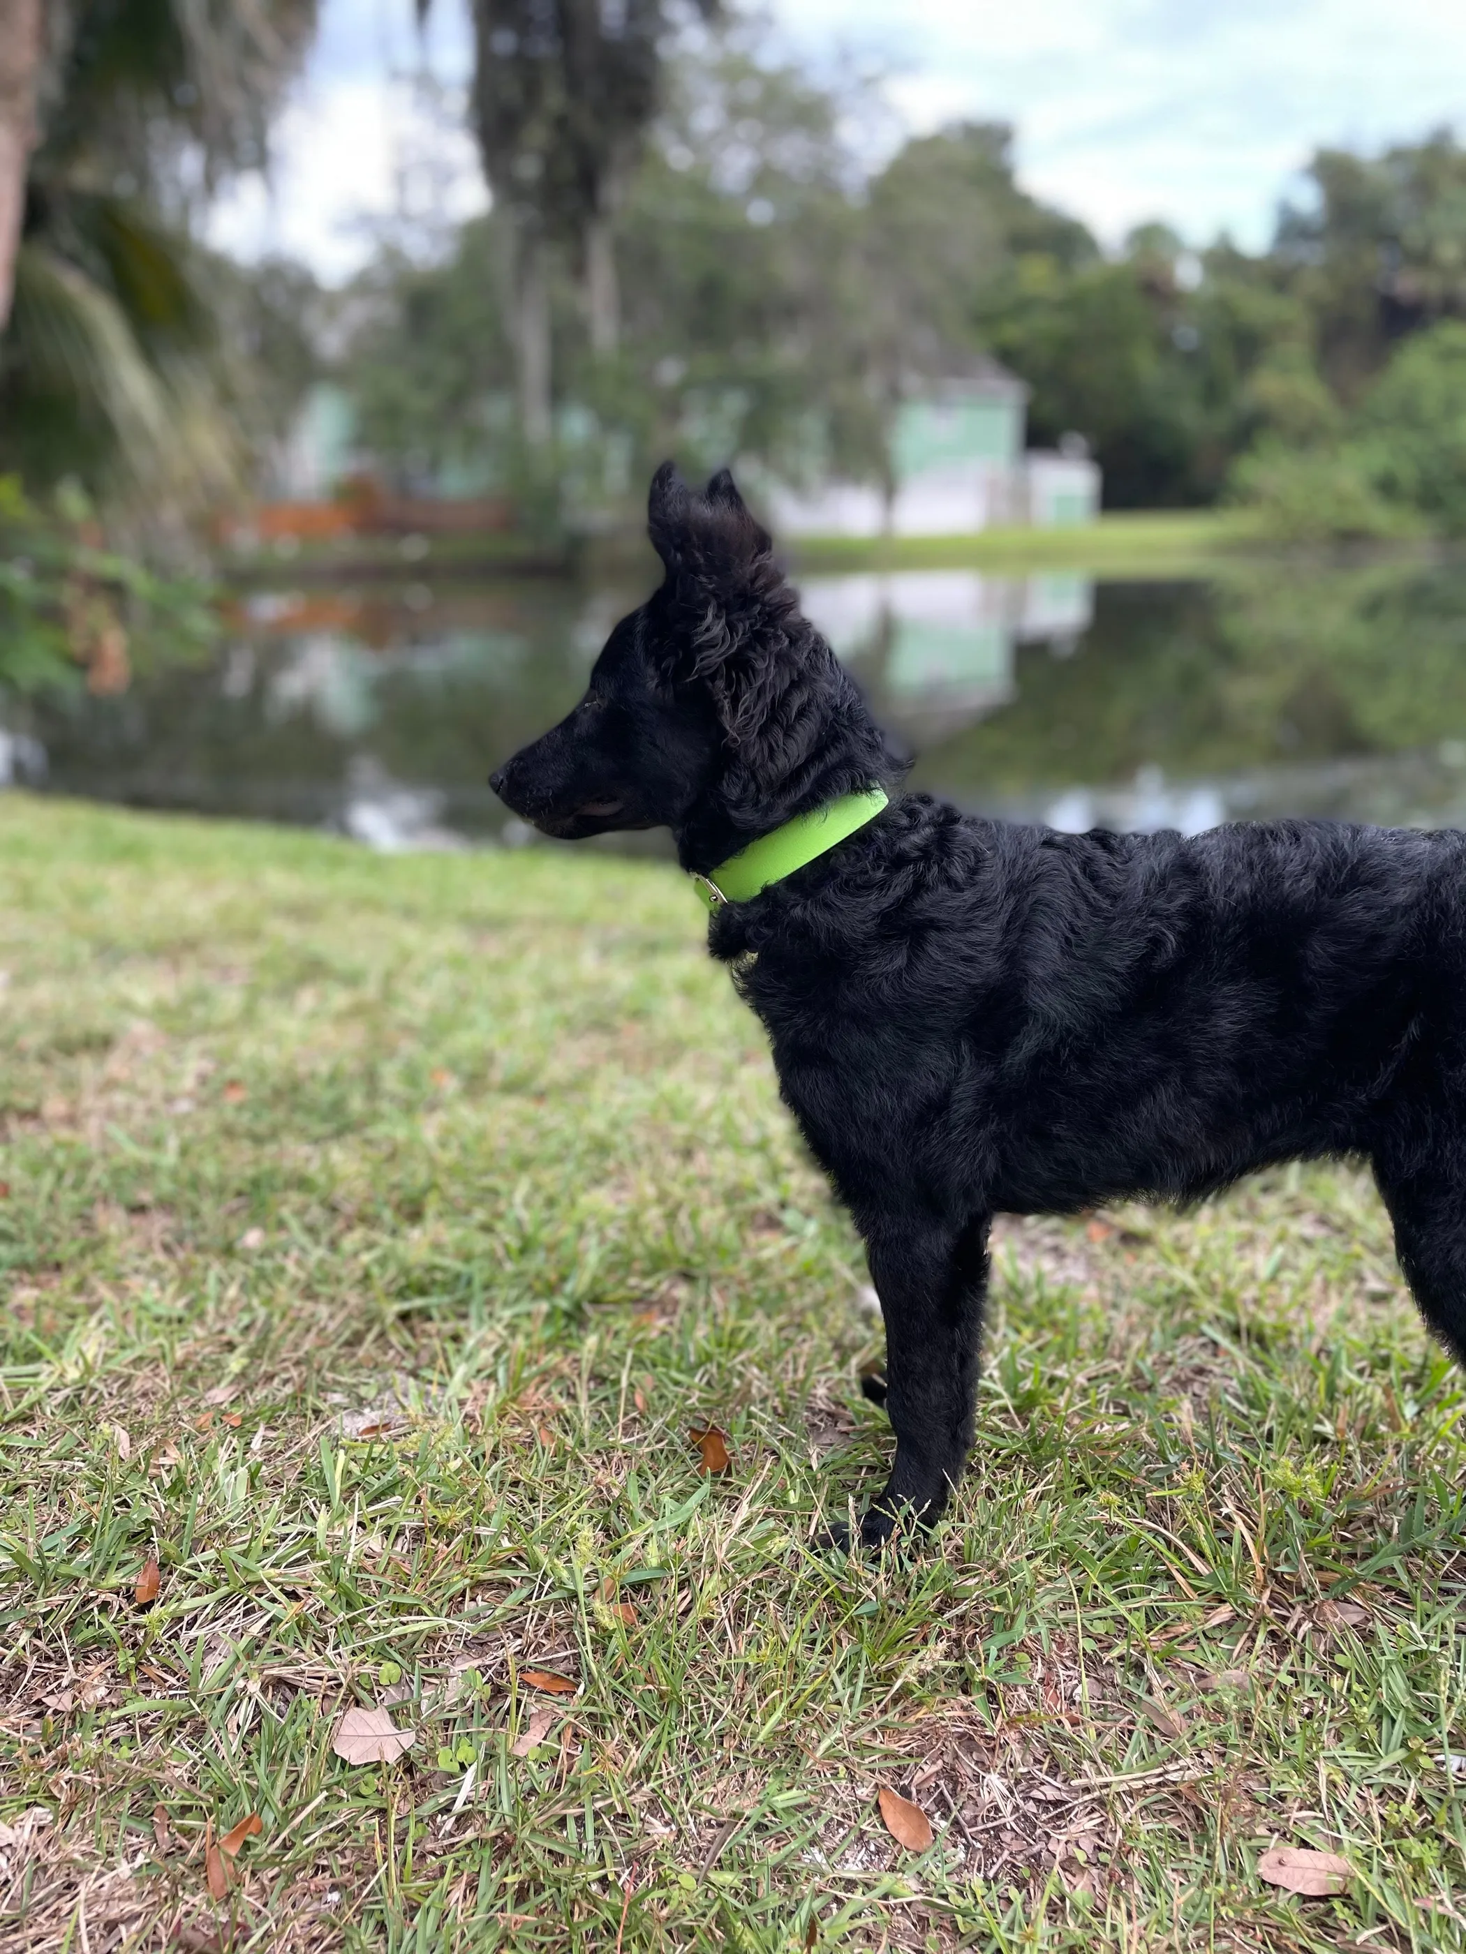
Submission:
[[[1441,0],[776,0],[784,37],[895,70],[915,129],[1016,127],[1024,184],[1116,240],[1163,217],[1267,242],[1319,145],[1466,123],[1466,8]]]

